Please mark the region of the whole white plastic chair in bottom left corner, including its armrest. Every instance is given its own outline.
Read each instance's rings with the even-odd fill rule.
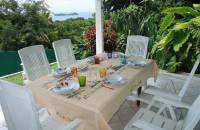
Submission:
[[[8,130],[76,130],[80,120],[60,123],[51,116],[40,119],[31,92],[0,81],[0,101]]]

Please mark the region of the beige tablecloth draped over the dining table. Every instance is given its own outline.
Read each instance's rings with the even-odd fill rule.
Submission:
[[[130,95],[131,90],[135,89],[137,84],[145,82],[149,77],[157,76],[157,66],[153,60],[147,60],[149,63],[144,67],[132,68],[127,65],[117,70],[126,83],[120,86],[105,85],[101,82],[91,88],[88,85],[79,90],[79,94],[72,98],[68,95],[58,95],[49,91],[49,88],[55,85],[56,79],[51,75],[42,77],[28,85],[32,90],[36,103],[44,105],[55,117],[61,117],[65,120],[75,118],[82,119],[79,130],[111,130],[108,121],[118,110],[120,105]],[[89,65],[87,79],[91,80],[93,76],[89,73],[91,68],[98,71],[99,66],[110,68],[111,65],[119,64],[118,59],[107,60],[101,65]],[[114,88],[114,89],[110,89]]]

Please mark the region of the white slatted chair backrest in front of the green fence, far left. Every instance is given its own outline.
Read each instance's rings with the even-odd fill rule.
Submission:
[[[27,80],[33,81],[51,73],[43,45],[25,47],[18,51]]]

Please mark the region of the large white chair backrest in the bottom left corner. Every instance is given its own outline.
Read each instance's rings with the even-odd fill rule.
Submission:
[[[0,102],[9,130],[41,130],[31,92],[0,81]]]

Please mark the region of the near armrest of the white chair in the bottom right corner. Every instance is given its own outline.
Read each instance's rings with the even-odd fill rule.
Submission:
[[[158,126],[155,126],[151,123],[142,120],[137,120],[132,125],[142,130],[165,130],[163,128],[160,128]]]

